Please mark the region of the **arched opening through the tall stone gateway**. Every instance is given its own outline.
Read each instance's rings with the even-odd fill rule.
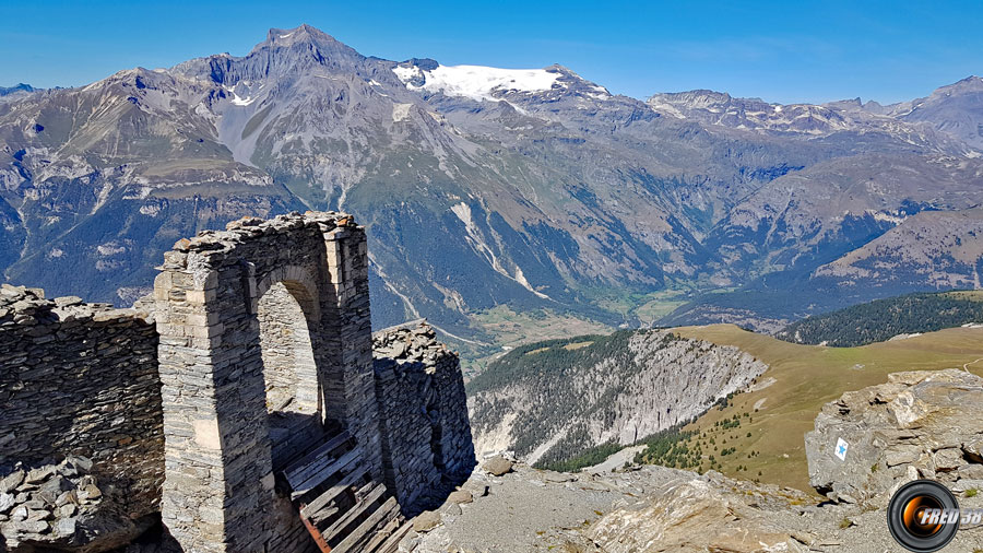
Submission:
[[[273,464],[323,436],[323,401],[308,322],[315,295],[299,282],[273,283],[257,302]]]

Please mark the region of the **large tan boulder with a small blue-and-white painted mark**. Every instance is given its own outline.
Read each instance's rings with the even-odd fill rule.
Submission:
[[[983,487],[981,404],[983,378],[958,369],[896,373],[846,392],[806,435],[809,482],[833,501],[875,508],[919,478]]]

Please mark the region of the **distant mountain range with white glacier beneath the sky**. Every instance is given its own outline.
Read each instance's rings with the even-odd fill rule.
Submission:
[[[391,61],[301,25],[242,57],[0,90],[0,268],[129,304],[182,236],[331,209],[367,226],[380,327],[426,316],[489,352],[496,306],[637,326],[671,297],[659,322],[772,330],[980,287],[981,156],[978,77],[887,106],[643,102],[561,66]]]

